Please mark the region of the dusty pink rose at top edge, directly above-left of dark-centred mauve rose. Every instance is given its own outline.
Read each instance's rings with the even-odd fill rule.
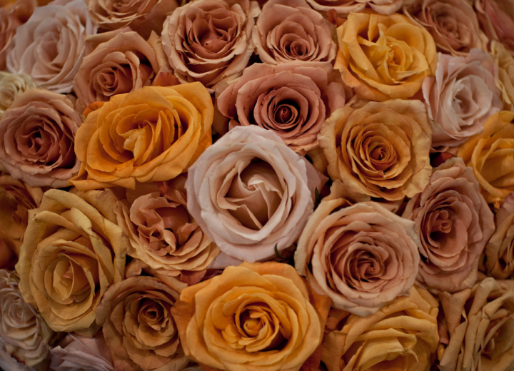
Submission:
[[[173,11],[161,37],[178,80],[214,88],[241,76],[253,54],[259,13],[257,2],[248,0],[200,0]]]

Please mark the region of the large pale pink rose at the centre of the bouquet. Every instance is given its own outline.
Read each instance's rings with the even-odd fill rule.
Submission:
[[[188,170],[188,210],[219,246],[218,260],[253,263],[290,247],[326,178],[272,131],[238,126]]]

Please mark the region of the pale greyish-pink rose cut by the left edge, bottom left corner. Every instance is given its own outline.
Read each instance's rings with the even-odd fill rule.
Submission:
[[[0,270],[0,337],[7,352],[29,367],[38,365],[48,355],[52,335],[39,313],[21,297],[16,276]]]

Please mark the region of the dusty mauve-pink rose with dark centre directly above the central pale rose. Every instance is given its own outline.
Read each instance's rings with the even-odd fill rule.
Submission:
[[[344,106],[345,88],[331,66],[255,63],[221,91],[216,102],[231,118],[228,128],[261,126],[304,155],[319,148],[316,137],[326,118]]]

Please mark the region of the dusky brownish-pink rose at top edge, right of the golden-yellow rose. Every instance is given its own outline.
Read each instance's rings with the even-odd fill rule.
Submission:
[[[435,45],[453,56],[467,56],[471,49],[487,51],[487,37],[466,0],[417,0],[404,9],[433,36]]]

